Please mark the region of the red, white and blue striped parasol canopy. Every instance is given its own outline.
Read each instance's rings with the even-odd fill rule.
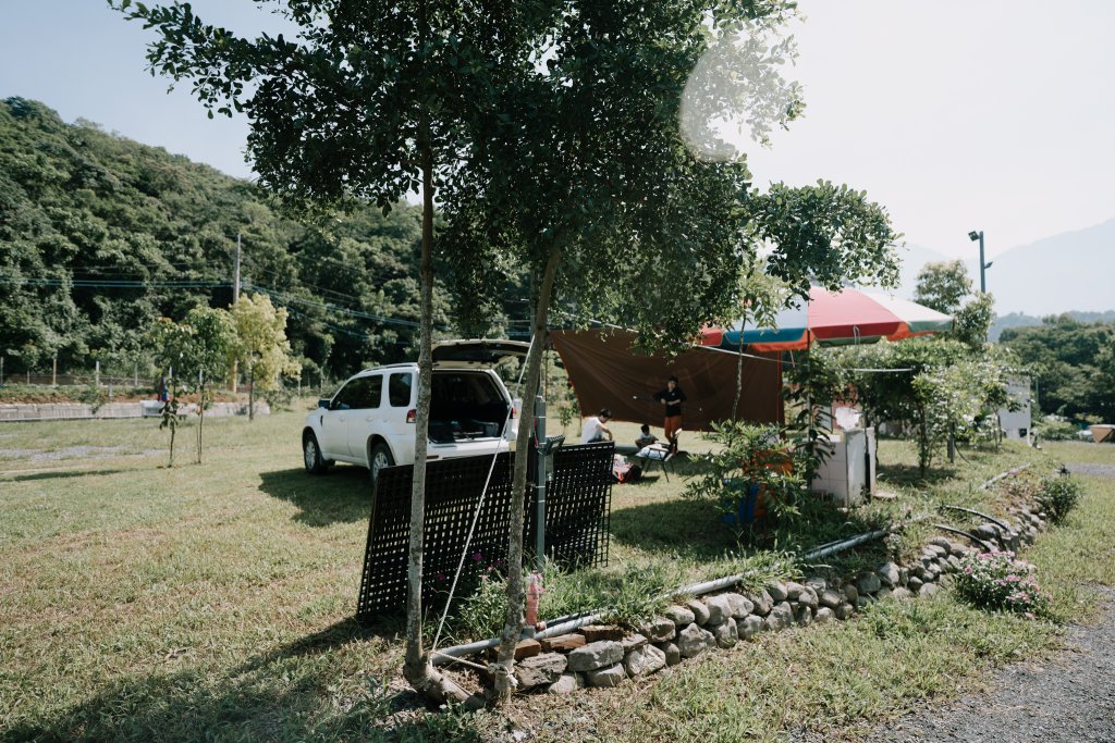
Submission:
[[[783,310],[773,327],[752,322],[731,327],[705,327],[701,345],[738,349],[740,335],[752,351],[799,351],[814,342],[874,343],[952,330],[952,317],[927,306],[855,289],[830,292],[814,286],[808,303]]]

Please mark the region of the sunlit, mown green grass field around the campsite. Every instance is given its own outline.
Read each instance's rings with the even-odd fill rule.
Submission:
[[[306,475],[301,420],[293,412],[206,421],[203,466],[187,463],[186,427],[173,469],[154,421],[0,428],[0,737],[483,740],[516,725],[541,741],[778,740],[803,727],[854,740],[865,716],[948,698],[978,684],[983,668],[1057,642],[1054,625],[947,597],[883,604],[855,622],[764,636],[649,682],[559,704],[523,697],[510,716],[416,712],[398,680],[400,624],[361,629],[350,618],[367,473],[339,466]],[[619,438],[633,440],[634,427],[619,427]],[[690,451],[706,446],[683,441]],[[1115,447],[1049,452],[1115,465]],[[954,468],[920,483],[905,444],[883,442],[880,458],[894,501],[764,539],[809,546],[937,501],[991,502],[977,483],[1019,463],[1053,462],[1017,447],[964,450]],[[680,498],[686,471],[681,463],[669,482],[655,475],[613,489],[613,571],[670,565],[681,578],[706,576],[748,551],[710,506]],[[1089,584],[1115,583],[1115,481],[1083,481],[1082,508],[1030,556],[1067,617],[1092,610]],[[918,538],[915,530],[909,544]]]

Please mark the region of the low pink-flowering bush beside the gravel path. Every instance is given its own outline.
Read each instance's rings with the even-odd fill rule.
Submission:
[[[960,560],[956,590],[981,609],[1021,614],[1031,619],[1049,614],[1049,598],[1038,588],[1034,566],[1011,551],[968,555]]]

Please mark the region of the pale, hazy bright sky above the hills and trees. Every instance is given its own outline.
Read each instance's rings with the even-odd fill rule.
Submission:
[[[289,30],[252,0],[193,0],[241,32]],[[1115,217],[1115,2],[801,0],[804,118],[753,146],[757,186],[866,190],[911,245],[989,256]],[[145,70],[151,32],[104,0],[0,0],[0,98],[251,177],[241,117]]]

